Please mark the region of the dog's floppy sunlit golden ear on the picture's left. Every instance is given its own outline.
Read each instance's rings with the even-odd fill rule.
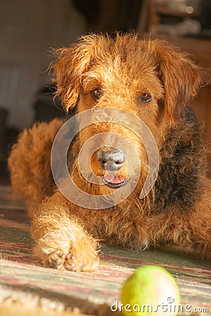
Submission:
[[[91,59],[94,57],[94,42],[94,36],[87,36],[69,48],[51,51],[56,57],[56,61],[49,67],[53,74],[53,81],[56,83],[55,94],[61,98],[67,112],[77,105],[82,74],[88,70]]]

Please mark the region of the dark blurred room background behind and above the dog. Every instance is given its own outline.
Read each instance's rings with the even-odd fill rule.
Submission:
[[[193,53],[207,70],[193,107],[210,150],[210,0],[0,0],[0,11],[0,184],[8,183],[6,159],[18,133],[34,121],[65,116],[59,100],[53,102],[49,50],[90,31],[135,29]]]

